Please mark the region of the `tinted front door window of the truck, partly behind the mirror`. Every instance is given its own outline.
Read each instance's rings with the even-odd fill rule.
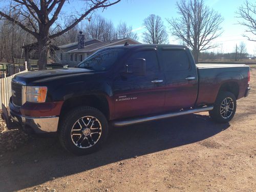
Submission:
[[[146,60],[146,71],[151,72],[151,71],[159,70],[156,51],[148,50],[148,51],[139,51],[139,52],[133,53],[130,56],[129,61],[132,61],[136,58],[143,58]]]

